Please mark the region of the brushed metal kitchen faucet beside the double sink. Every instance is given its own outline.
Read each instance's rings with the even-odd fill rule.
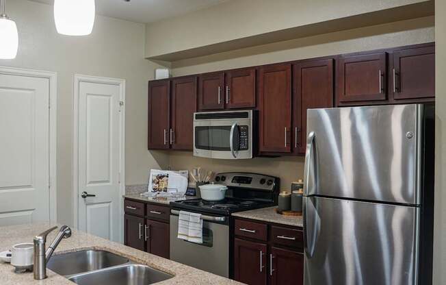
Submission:
[[[59,233],[55,236],[53,243],[45,251],[45,243],[50,232],[57,229],[57,226],[42,232],[34,237],[34,279],[41,280],[47,278],[47,262],[53,256],[53,252],[59,245],[62,238],[71,236],[71,229],[66,225],[60,227]]]

